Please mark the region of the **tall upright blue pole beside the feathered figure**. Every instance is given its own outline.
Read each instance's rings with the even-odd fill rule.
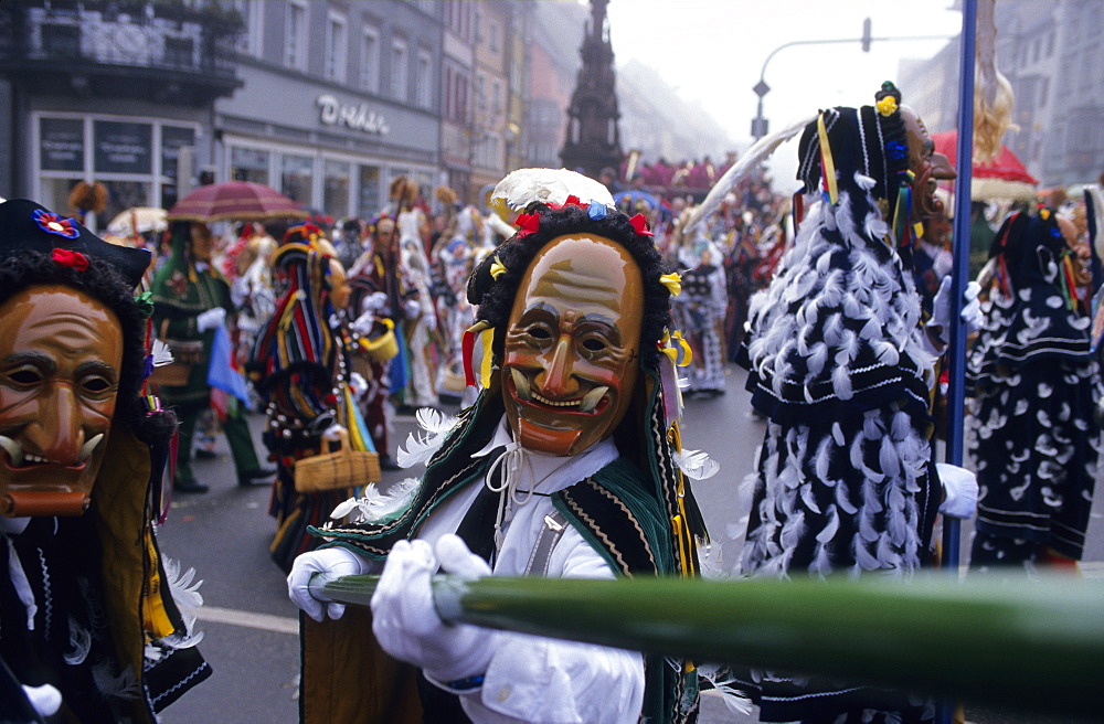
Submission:
[[[954,268],[951,273],[951,347],[947,350],[947,449],[946,461],[963,464],[964,419],[966,403],[966,324],[962,320],[963,292],[969,272],[970,185],[974,159],[974,40],[977,29],[977,0],[963,0],[962,54],[958,61],[958,146],[956,152],[958,180],[955,182]],[[962,530],[957,519],[943,519],[943,555],[941,565],[952,575],[958,574],[962,555]],[[944,701],[937,721],[949,724],[953,702]]]

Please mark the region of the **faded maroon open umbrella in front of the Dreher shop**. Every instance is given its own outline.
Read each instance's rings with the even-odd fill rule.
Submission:
[[[200,187],[169,210],[169,221],[306,219],[301,205],[263,183],[225,181]]]

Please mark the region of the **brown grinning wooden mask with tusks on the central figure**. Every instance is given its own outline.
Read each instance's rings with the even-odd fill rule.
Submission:
[[[502,394],[522,447],[577,455],[620,423],[636,386],[644,283],[618,244],[552,239],[518,288],[506,331]]]

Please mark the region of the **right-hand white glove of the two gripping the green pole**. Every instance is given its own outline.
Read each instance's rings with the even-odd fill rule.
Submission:
[[[449,682],[487,670],[495,634],[440,620],[429,586],[438,558],[448,573],[490,575],[487,562],[456,535],[442,536],[436,557],[425,541],[399,541],[372,595],[372,632],[394,658],[422,668],[436,681]]]

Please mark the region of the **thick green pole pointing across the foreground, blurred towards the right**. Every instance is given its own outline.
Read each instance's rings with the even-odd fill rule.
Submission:
[[[318,583],[325,597],[368,605],[376,581]],[[1101,712],[1104,586],[1095,582],[436,576],[433,587],[449,621],[1018,711]]]

